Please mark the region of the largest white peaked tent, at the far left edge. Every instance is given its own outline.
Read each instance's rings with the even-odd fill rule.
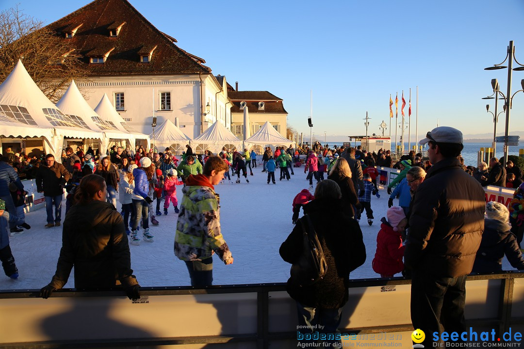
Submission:
[[[27,128],[54,129],[52,139],[45,142],[46,152],[56,159],[62,155],[64,137],[100,138],[100,132],[91,131],[87,125],[64,115],[40,91],[20,60],[6,80],[0,85],[0,111],[27,125]]]

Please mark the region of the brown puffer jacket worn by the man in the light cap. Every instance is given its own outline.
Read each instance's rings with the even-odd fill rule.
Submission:
[[[484,230],[484,190],[458,159],[434,164],[415,192],[404,263],[437,277],[471,272]]]

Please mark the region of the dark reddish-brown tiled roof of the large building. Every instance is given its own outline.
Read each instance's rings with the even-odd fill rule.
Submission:
[[[109,30],[122,23],[117,37]],[[73,38],[64,38],[65,29],[78,29]],[[83,62],[93,76],[150,75],[150,74],[209,74],[211,69],[202,59],[178,48],[172,40],[153,26],[127,0],[95,0],[75,12],[51,23],[48,28],[63,40],[70,40],[75,52],[84,56]],[[149,63],[141,63],[139,52],[144,47],[157,46]],[[115,49],[103,64],[90,64],[88,54],[106,48]],[[103,52],[105,54],[108,50]],[[199,62],[200,60],[200,62]]]

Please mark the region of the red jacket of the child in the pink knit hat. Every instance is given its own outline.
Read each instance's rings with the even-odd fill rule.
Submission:
[[[406,246],[402,246],[400,233],[400,231],[394,231],[384,221],[380,225],[380,231],[377,235],[377,252],[372,263],[375,273],[394,275],[403,271],[402,257]]]

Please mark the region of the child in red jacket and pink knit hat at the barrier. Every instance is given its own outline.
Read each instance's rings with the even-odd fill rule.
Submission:
[[[387,220],[381,219],[377,235],[377,252],[373,258],[373,270],[380,277],[393,277],[404,270],[402,257],[406,246],[402,246],[401,233],[408,220],[402,207],[391,207],[387,211]]]

